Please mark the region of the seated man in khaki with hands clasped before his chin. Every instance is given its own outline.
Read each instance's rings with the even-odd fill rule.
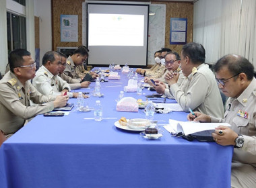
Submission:
[[[186,77],[177,84],[179,73],[166,73],[170,93],[184,111],[189,108],[221,118],[224,106],[214,73],[205,62],[205,49],[201,44],[191,42],[181,50],[181,69]]]

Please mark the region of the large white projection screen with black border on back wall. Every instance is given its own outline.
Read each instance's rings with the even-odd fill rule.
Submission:
[[[88,3],[88,64],[148,65],[149,5]]]

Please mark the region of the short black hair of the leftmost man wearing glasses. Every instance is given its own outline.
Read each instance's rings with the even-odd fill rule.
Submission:
[[[22,66],[24,62],[23,56],[30,56],[30,55],[31,55],[30,52],[28,52],[25,49],[12,50],[8,56],[8,62],[9,62],[11,72],[14,73],[13,71],[14,68]]]

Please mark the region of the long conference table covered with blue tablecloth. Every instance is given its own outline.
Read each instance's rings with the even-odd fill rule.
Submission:
[[[169,119],[186,121],[188,113],[155,113],[163,134],[158,140],[115,126],[122,116],[145,118],[143,109],[116,110],[115,99],[128,83],[127,75],[118,73],[120,80],[101,83],[103,97],[85,99],[89,107],[101,101],[101,122],[93,120],[93,110],[75,108],[63,117],[37,115],[5,141],[0,148],[0,187],[230,187],[232,146],[175,138],[161,125]],[[94,85],[78,91],[92,93]],[[144,101],[154,93],[145,88],[143,95],[125,97]]]

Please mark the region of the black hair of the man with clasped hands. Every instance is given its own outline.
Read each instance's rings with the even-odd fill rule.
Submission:
[[[202,64],[205,62],[205,49],[201,44],[195,42],[185,44],[181,52],[183,56],[188,56],[194,64]]]

